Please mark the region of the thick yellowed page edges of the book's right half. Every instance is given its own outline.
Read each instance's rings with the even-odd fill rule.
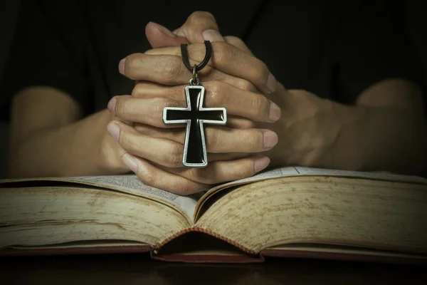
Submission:
[[[196,227],[253,252],[307,242],[427,254],[426,205],[427,185],[286,177],[228,192]]]

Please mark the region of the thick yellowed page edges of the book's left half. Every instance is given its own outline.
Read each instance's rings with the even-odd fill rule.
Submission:
[[[173,207],[115,191],[78,187],[0,190],[0,248],[99,240],[154,246],[189,226]]]

